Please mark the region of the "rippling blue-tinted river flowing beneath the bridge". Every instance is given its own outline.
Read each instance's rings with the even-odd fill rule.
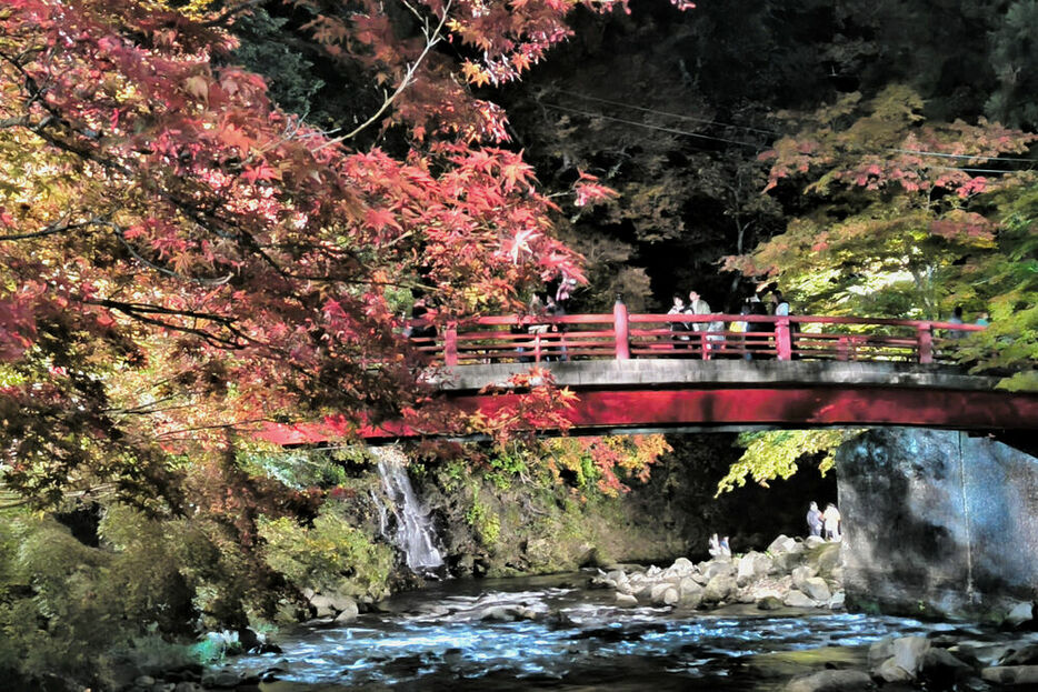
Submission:
[[[776,611],[620,609],[588,574],[452,581],[399,594],[350,626],[278,638],[229,666],[265,690],[778,690],[827,663],[865,668],[868,644],[949,625]],[[495,606],[515,622],[488,620]],[[500,612],[500,609],[498,610]]]

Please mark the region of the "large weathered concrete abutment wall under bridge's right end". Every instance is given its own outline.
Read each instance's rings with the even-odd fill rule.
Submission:
[[[1038,459],[955,431],[869,431],[837,455],[848,604],[998,616],[1038,596]]]

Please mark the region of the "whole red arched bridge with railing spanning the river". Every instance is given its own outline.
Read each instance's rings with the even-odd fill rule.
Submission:
[[[578,401],[571,433],[918,425],[1026,440],[1038,394],[955,365],[971,324],[835,317],[612,314],[487,317],[433,331],[412,323],[430,381],[459,412],[515,405],[509,379],[550,370]],[[498,385],[491,395],[488,385]],[[546,431],[550,432],[550,431]],[[371,443],[438,430],[366,427]],[[323,425],[276,427],[281,444],[327,439]]]

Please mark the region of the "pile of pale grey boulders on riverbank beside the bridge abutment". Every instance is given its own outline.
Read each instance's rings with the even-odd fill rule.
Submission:
[[[669,568],[602,572],[592,586],[613,589],[617,604],[718,608],[757,603],[761,610],[844,606],[840,544],[780,535],[765,552],[721,555],[698,564],[678,558]]]

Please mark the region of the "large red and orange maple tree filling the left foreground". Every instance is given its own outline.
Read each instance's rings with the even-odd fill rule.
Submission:
[[[282,112],[228,63],[227,26],[249,3],[0,10],[9,487],[53,500],[159,482],[163,454],[220,447],[227,429],[396,412],[422,397],[400,337],[408,294],[447,319],[580,278],[555,204],[500,146],[503,112],[457,77],[516,78],[569,34],[572,6],[298,4],[328,54],[396,84],[352,132]],[[446,40],[481,58],[459,67]],[[356,148],[376,126],[411,146]],[[591,177],[576,190],[608,193]]]

